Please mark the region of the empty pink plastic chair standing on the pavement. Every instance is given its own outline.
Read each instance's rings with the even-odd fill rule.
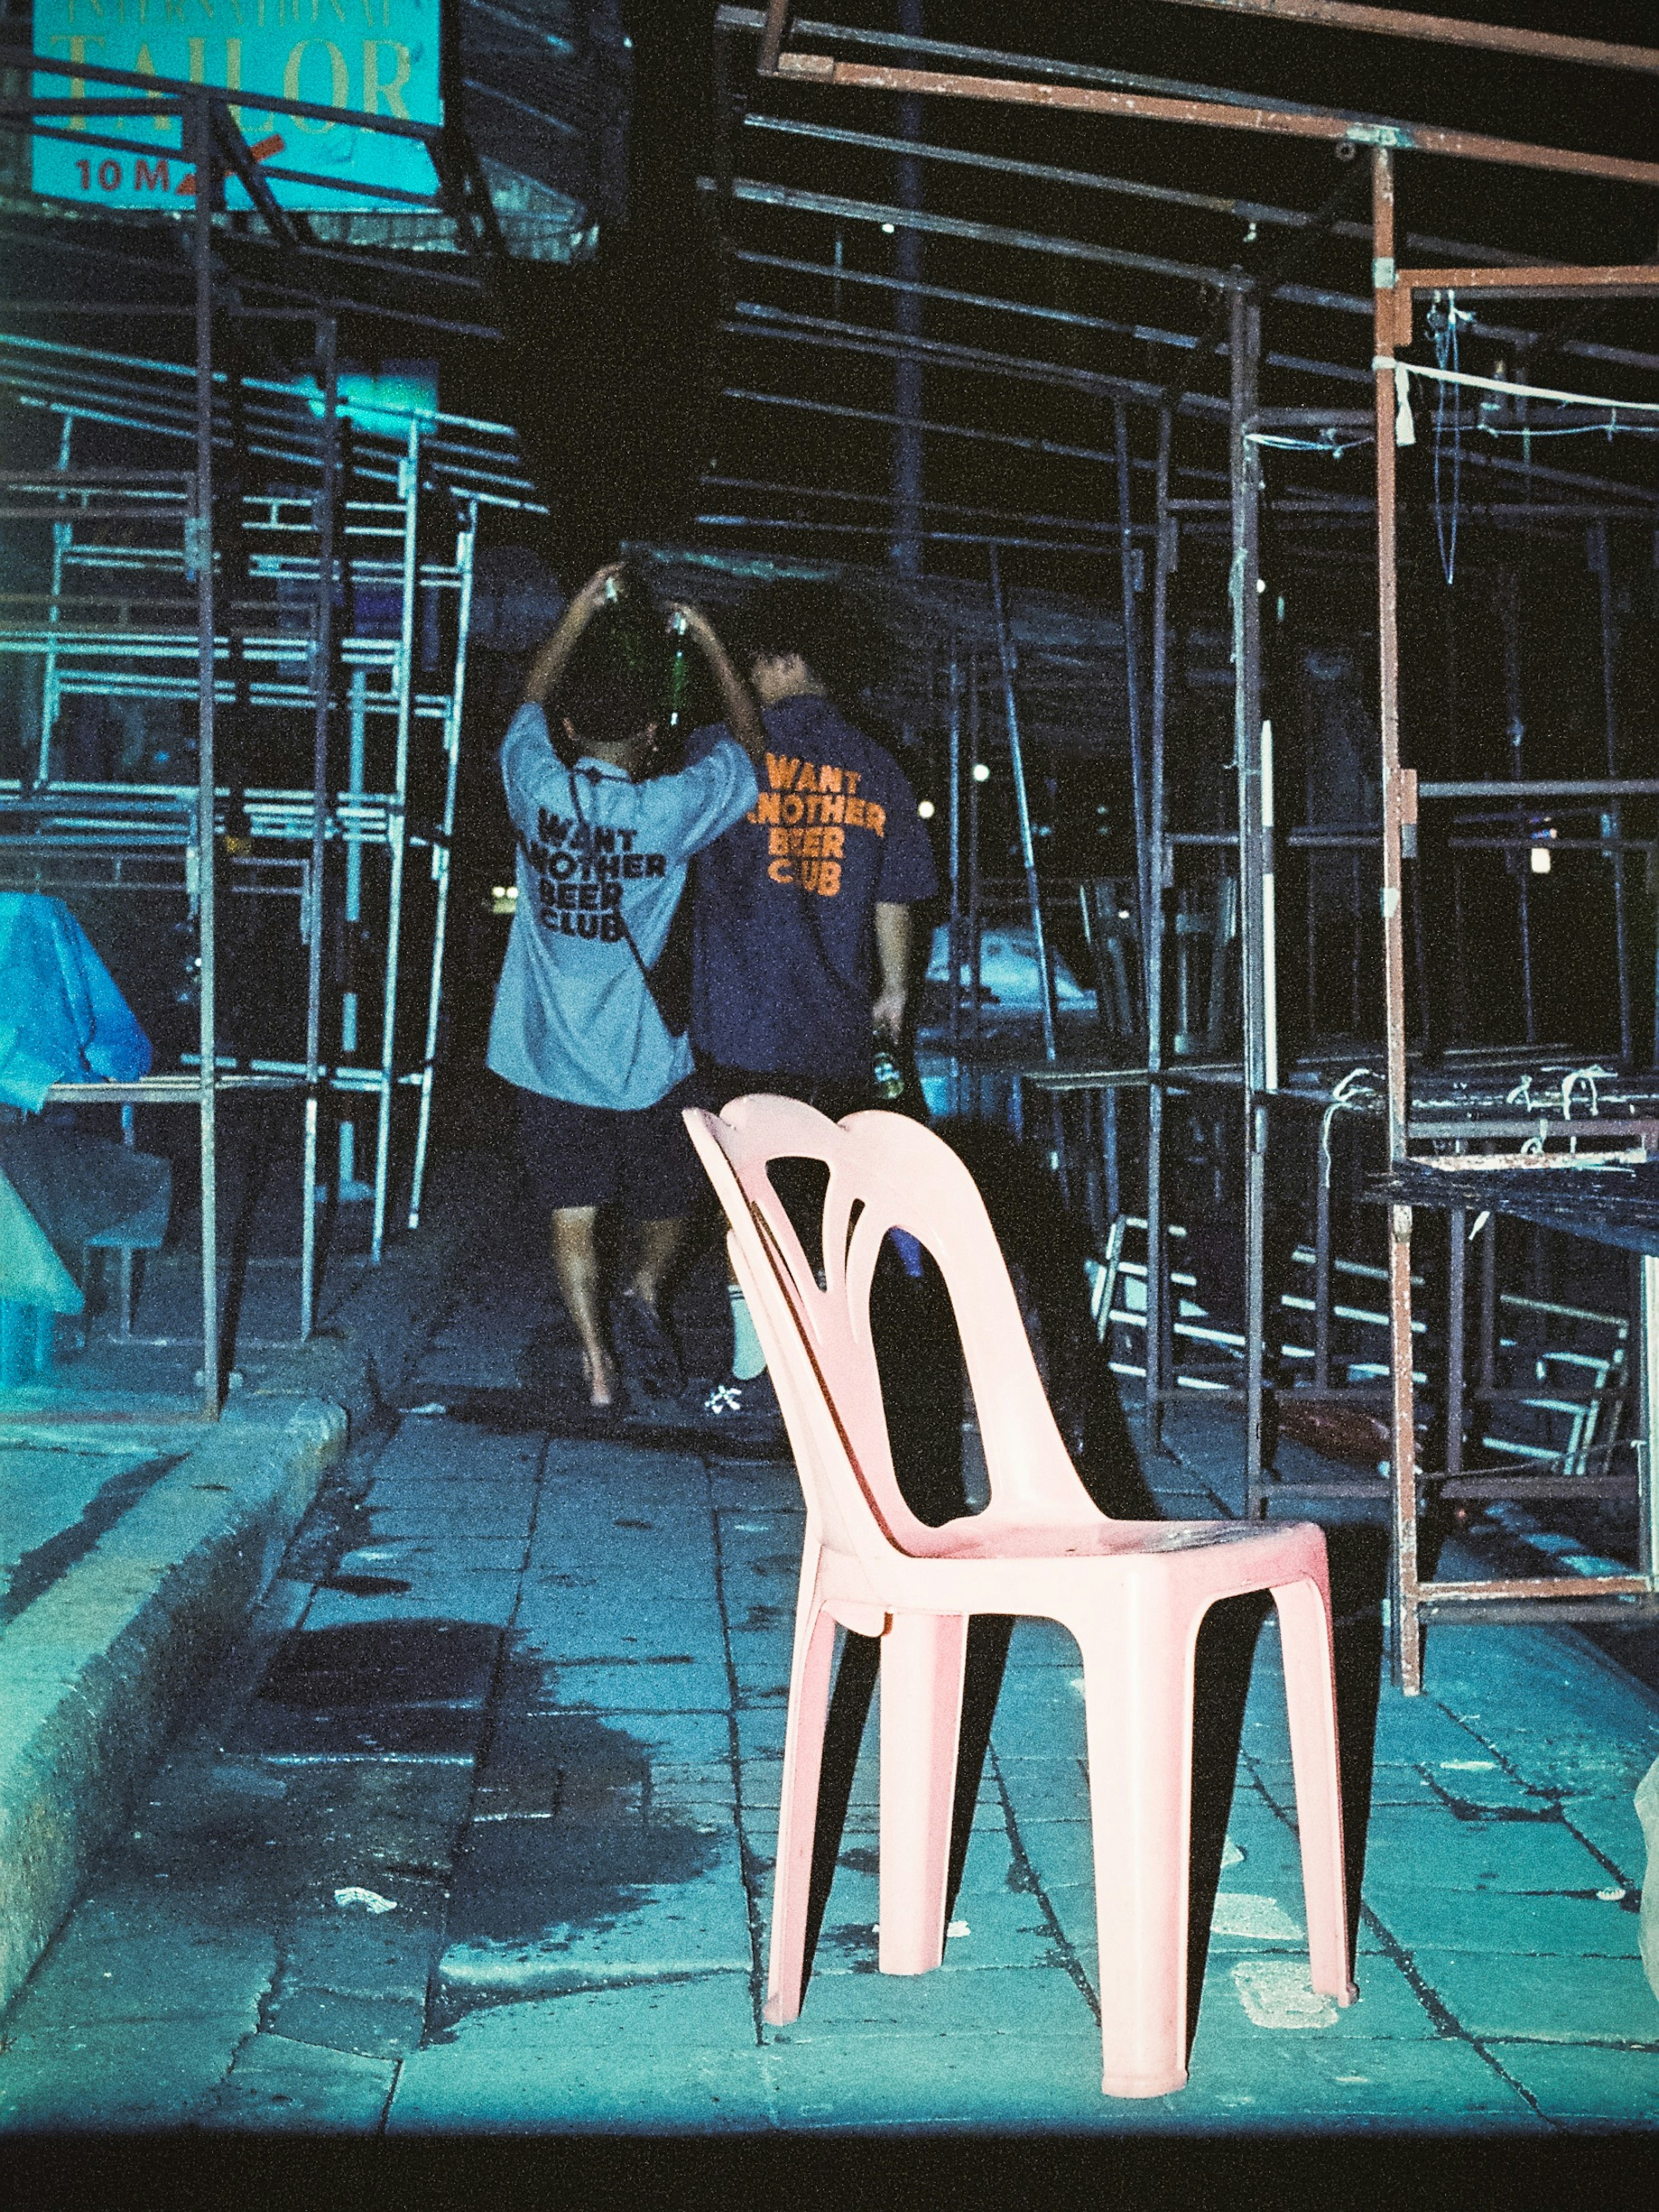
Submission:
[[[891,1113],[827,1121],[743,1097],[686,1126],[730,1221],[807,1506],[783,1745],[765,2017],[801,2011],[807,1882],[836,1624],[880,1650],[883,1973],[945,1955],[962,1668],[975,1613],[1062,1621],[1084,1666],[1108,2097],[1186,2081],[1192,1650],[1219,1597],[1279,1606],[1314,1989],[1347,1975],[1325,1535],[1310,1522],[1117,1522],[1060,1440],[991,1223],[967,1168]],[[768,1177],[772,1159],[830,1168],[825,1287]],[[869,1283],[889,1228],[938,1261],[956,1310],[991,1504],[929,1528],[894,1480],[869,1334]]]

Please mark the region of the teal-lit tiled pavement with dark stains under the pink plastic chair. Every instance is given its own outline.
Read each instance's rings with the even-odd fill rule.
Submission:
[[[500,1413],[522,1336],[482,1285],[416,1396],[473,1387]],[[1172,1475],[1170,1511],[1212,1511]],[[1630,1805],[1659,1699],[1571,1632],[1440,1630],[1431,1694],[1383,1688],[1367,1747],[1376,1626],[1349,1621],[1360,2002],[1336,2013],[1307,1984],[1276,1637],[1252,1661],[1252,1621],[1219,1626],[1190,2086],[1121,2104],[1099,2095],[1077,1657],[1022,1624],[947,1964],[874,1971],[872,1725],[805,2011],[763,2028],[799,1548],[787,1467],[405,1416],[336,1473],[0,2022],[0,2126],[1544,2139],[1659,2119]]]

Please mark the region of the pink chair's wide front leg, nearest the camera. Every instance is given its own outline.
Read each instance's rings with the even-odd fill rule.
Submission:
[[[1186,2084],[1194,1626],[1073,1624],[1084,1652],[1108,2097],[1166,2097]]]

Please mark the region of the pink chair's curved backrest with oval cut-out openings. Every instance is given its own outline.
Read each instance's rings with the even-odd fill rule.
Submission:
[[[891,1228],[931,1252],[956,1314],[991,1478],[978,1531],[1099,1522],[1048,1411],[984,1201],[947,1144],[907,1115],[856,1113],[836,1124],[768,1095],[732,1099],[723,1115],[692,1110],[686,1124],[732,1223],[739,1272],[794,1329],[803,1358],[790,1360],[785,1345],[785,1367],[805,1367],[816,1385],[796,1398],[805,1431],[796,1464],[825,1544],[914,1557],[958,1548],[949,1526],[962,1524],[916,1520],[894,1478],[869,1327],[869,1287]],[[768,1175],[774,1159],[816,1159],[830,1170],[823,1287]],[[774,1380],[787,1411],[787,1376]]]

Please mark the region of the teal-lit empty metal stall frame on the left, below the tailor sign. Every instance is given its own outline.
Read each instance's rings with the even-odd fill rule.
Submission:
[[[69,66],[7,55],[20,71],[71,75]],[[540,509],[513,434],[436,409],[389,409],[383,398],[341,394],[338,312],[325,296],[352,257],[316,246],[303,217],[279,208],[252,159],[230,95],[173,80],[131,80],[75,64],[69,97],[31,95],[7,104],[24,131],[95,146],[100,117],[135,111],[177,115],[184,153],[201,188],[190,217],[192,358],[106,354],[18,334],[0,336],[0,389],[20,407],[60,420],[58,465],[0,476],[4,518],[51,538],[33,593],[15,593],[0,622],[0,653],[40,661],[40,734],[33,774],[0,783],[0,876],[15,887],[119,887],[184,898],[197,925],[197,1053],[175,1073],[124,1086],[64,1084],[66,1102],[190,1104],[201,1141],[201,1391],[217,1418],[223,1396],[219,1294],[217,1148],[219,1097],[243,1091],[301,1093],[303,1208],[301,1312],[305,1338],[316,1312],[316,1210],[321,1099],[372,1097],[374,1214],[378,1261],[392,1201],[394,1113],[416,1093],[409,1219],[418,1221],[431,1126],[431,1082],[442,1006],[442,947],[449,898],[460,717],[467,675],[473,549],[484,507]],[[299,102],[268,108],[327,115]],[[93,131],[86,131],[86,124]],[[361,124],[363,117],[343,117]],[[476,157],[449,126],[389,124],[420,139],[438,179],[434,206],[460,246],[493,272],[489,197]],[[257,219],[283,250],[285,276],[254,281],[254,301],[223,294],[217,219],[223,179],[234,175]],[[305,179],[301,179],[305,181]],[[332,181],[332,179],[321,179]],[[310,261],[319,263],[307,268]],[[469,274],[445,279],[487,292]],[[301,305],[259,305],[276,294]],[[338,303],[358,312],[358,303]],[[115,307],[113,312],[122,312]],[[144,310],[139,310],[144,312]],[[179,310],[157,307],[157,314]],[[363,307],[374,314],[380,310]],[[398,310],[392,310],[396,314]],[[312,372],[290,383],[241,372],[217,345],[230,319],[310,327]],[[414,316],[420,321],[420,316]],[[438,327],[449,327],[440,321]],[[80,425],[106,425],[175,469],[77,462]],[[392,622],[338,622],[378,595]],[[422,681],[420,644],[434,602],[447,602],[449,646],[440,681]],[[338,633],[345,635],[338,635]],[[64,779],[53,754],[58,708],[82,692],[175,701],[195,726],[195,783],[117,785]],[[285,787],[237,787],[226,770],[226,723],[292,717],[294,754],[307,774]],[[349,728],[349,774],[338,752]],[[374,739],[380,739],[378,743]],[[376,759],[378,757],[378,759]],[[378,1040],[358,1022],[358,993],[343,991],[336,1037],[325,1037],[323,951],[330,925],[361,922],[365,860],[385,854]],[[411,860],[427,858],[431,898],[411,914]],[[338,865],[334,865],[338,860]],[[219,1051],[221,894],[296,898],[305,949],[303,1051],[246,1064]],[[341,911],[345,909],[345,914]],[[405,971],[425,964],[420,1044],[411,1046]],[[131,1128],[131,1117],[124,1115]]]

